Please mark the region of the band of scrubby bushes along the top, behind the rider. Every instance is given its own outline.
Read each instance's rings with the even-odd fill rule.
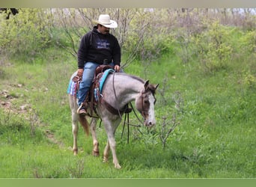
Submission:
[[[92,19],[97,19],[100,13],[109,13],[118,22],[112,34],[121,43],[123,67],[135,59],[153,61],[177,53],[184,63],[201,55],[204,71],[213,72],[226,68],[234,52],[228,38],[231,31],[225,25],[251,31],[253,45],[252,11],[244,9],[241,14],[241,10],[225,8],[22,8],[8,20],[2,16],[0,48],[9,57],[23,55],[33,60],[49,44],[54,44],[76,58],[80,38],[94,26]],[[243,18],[246,19],[242,22]]]

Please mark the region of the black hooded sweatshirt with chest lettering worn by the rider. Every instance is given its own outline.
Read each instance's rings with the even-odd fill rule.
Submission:
[[[83,69],[88,61],[103,64],[105,59],[107,63],[114,62],[115,65],[120,66],[121,48],[115,36],[101,34],[95,26],[82,37],[77,57],[79,69]]]

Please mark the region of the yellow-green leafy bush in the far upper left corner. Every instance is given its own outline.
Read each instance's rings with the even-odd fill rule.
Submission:
[[[34,58],[49,43],[49,25],[43,10],[25,8],[16,16],[1,20],[0,49],[7,56]]]

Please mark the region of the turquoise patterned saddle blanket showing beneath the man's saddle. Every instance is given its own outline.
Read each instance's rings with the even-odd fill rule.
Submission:
[[[100,78],[100,93],[102,93],[103,91],[103,85],[104,85],[104,82],[106,81],[106,78],[109,76],[109,73],[112,73],[114,72],[115,70],[112,70],[112,69],[108,69],[106,71],[104,71],[103,73],[103,76]],[[70,95],[73,95],[73,96],[76,96],[78,97],[78,91],[77,91],[77,84],[79,84],[79,82],[73,82],[72,79],[70,79],[70,83],[68,85],[68,88],[67,88],[67,93],[69,93]]]

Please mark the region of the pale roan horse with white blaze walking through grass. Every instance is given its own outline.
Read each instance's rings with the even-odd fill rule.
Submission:
[[[73,73],[75,76],[76,73]],[[71,79],[73,79],[71,76]],[[99,143],[96,135],[97,120],[101,118],[108,137],[108,141],[103,153],[103,162],[108,161],[109,150],[112,151],[112,158],[115,168],[121,168],[118,157],[116,155],[115,131],[121,123],[121,116],[124,114],[124,108],[129,103],[135,100],[135,108],[141,113],[144,118],[144,126],[151,127],[156,124],[154,114],[154,104],[156,98],[154,96],[158,85],[149,84],[149,81],[144,81],[137,76],[131,76],[126,73],[112,73],[106,78],[100,101],[96,105],[96,111],[99,117],[91,117],[91,135],[93,138],[93,155],[99,156]],[[78,153],[77,133],[78,121],[82,124],[85,132],[88,130],[88,116],[81,117],[77,114],[78,105],[76,96],[69,94],[70,108],[72,112],[73,122],[73,153]],[[116,111],[116,112],[113,112]],[[89,112],[88,112],[89,113]]]

